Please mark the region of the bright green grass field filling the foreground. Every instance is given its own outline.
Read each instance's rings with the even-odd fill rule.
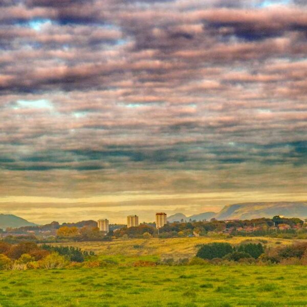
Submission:
[[[0,272],[0,306],[307,306],[303,266],[111,267]]]

